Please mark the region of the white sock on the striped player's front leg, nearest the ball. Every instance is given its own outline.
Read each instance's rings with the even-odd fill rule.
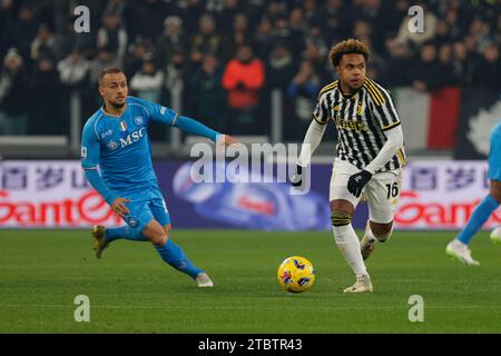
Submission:
[[[350,267],[352,267],[353,273],[358,277],[362,275],[369,275],[365,268],[364,259],[360,251],[360,241],[356,236],[353,226],[333,226],[334,239],[336,241],[337,248],[344,256]]]

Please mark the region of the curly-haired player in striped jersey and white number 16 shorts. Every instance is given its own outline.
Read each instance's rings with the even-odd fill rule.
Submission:
[[[369,49],[347,39],[332,48],[330,59],[338,80],[318,93],[293,186],[303,184],[303,169],[310,164],[333,120],[337,130],[337,157],[330,188],[332,226],[336,245],[356,276],[344,293],[371,293],[373,285],[364,260],[375,244],[392,235],[402,168],[405,165],[401,121],[390,93],[366,77]],[[361,199],[369,202],[369,220],[362,240],[352,226]]]

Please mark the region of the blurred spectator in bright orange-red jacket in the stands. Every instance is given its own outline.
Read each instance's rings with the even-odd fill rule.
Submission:
[[[250,46],[238,47],[223,75],[223,87],[228,92],[228,132],[255,135],[263,131],[257,106],[264,76],[263,62],[253,56]]]

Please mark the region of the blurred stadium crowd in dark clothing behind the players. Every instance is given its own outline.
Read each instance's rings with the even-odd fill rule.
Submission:
[[[407,29],[413,4],[422,33]],[[89,33],[75,31],[77,6]],[[279,89],[285,138],[301,139],[333,80],[330,48],[348,37],[369,46],[369,76],[384,86],[501,91],[497,0],[0,0],[0,134],[66,135],[70,96],[89,117],[99,71],[117,65],[132,95],[183,98],[183,113],[228,134],[269,134]]]

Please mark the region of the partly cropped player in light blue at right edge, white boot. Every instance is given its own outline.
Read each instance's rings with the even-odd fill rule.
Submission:
[[[480,263],[471,257],[468,244],[477,231],[485,224],[492,212],[501,204],[501,122],[491,130],[491,148],[489,151],[489,179],[491,182],[489,195],[473,210],[466,226],[458,237],[449,243],[445,253],[468,266],[478,266]]]

